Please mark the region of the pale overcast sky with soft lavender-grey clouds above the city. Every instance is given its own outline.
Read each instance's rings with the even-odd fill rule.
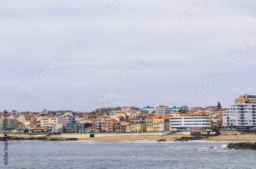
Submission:
[[[229,107],[256,95],[255,1],[0,1],[0,111]]]

